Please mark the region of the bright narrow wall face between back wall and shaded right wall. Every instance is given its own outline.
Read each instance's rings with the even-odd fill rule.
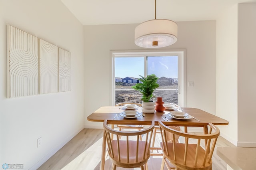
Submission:
[[[229,121],[220,126],[223,137],[237,142],[237,16],[238,6],[226,10],[216,21],[216,115]]]

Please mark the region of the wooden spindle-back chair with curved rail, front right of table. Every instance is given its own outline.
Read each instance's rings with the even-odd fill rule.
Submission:
[[[208,123],[208,134],[188,133],[187,127],[184,127],[184,132],[167,127],[162,122],[158,122],[162,142],[160,146],[163,151],[161,170],[164,169],[164,164],[170,170],[169,162],[176,166],[176,170],[211,170],[212,169],[212,154],[220,130],[213,124]],[[202,127],[203,128],[203,127]],[[166,133],[171,132],[173,142],[167,141]],[[175,135],[184,137],[184,142],[177,143]],[[206,141],[205,142],[201,142]],[[167,159],[167,160],[166,160]]]

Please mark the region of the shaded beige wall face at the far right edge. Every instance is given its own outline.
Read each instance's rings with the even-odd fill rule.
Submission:
[[[256,3],[238,5],[238,146],[256,147],[255,16]]]

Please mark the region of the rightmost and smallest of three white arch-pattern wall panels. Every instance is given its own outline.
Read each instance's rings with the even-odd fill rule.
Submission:
[[[71,91],[71,53],[59,48],[59,92]]]

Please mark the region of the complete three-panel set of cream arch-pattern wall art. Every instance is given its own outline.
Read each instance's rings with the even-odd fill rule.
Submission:
[[[71,91],[71,53],[7,25],[7,98]]]

